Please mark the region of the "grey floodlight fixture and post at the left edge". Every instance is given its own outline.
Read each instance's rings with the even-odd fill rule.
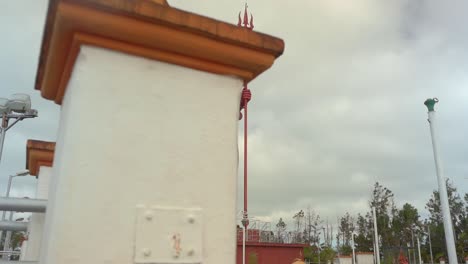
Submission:
[[[0,161],[2,159],[3,144],[8,129],[25,118],[37,117],[37,110],[31,109],[31,98],[27,94],[13,94],[10,99],[0,98]],[[10,119],[16,119],[8,125]]]

